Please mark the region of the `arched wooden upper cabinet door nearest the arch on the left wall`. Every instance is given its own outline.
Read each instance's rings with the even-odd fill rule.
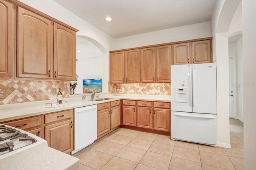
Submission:
[[[54,79],[76,79],[76,32],[54,23]]]

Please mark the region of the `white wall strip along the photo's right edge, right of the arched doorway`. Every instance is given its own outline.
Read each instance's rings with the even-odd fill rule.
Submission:
[[[242,0],[244,83],[256,83],[256,1]],[[256,167],[256,87],[244,87],[244,169]]]

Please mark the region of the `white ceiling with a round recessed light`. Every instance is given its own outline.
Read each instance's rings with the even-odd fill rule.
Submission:
[[[113,38],[210,21],[216,0],[53,0]],[[111,17],[112,21],[106,21]]]

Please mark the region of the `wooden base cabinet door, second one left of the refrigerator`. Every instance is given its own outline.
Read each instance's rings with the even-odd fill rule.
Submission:
[[[138,107],[137,126],[152,129],[151,107]]]

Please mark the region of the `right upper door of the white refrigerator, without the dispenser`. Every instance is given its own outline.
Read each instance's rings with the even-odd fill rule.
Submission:
[[[217,114],[216,63],[192,65],[193,113]]]

